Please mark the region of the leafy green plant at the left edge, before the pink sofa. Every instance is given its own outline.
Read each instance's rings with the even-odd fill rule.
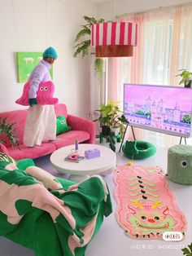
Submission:
[[[6,136],[7,139],[10,140],[11,146],[19,147],[19,139],[15,135],[15,122],[9,124],[7,122],[7,117],[0,118],[0,136],[2,135],[2,139],[0,138],[0,143],[7,143],[3,136]]]

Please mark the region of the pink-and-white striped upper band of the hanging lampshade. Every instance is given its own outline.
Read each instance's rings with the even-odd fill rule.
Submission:
[[[137,46],[137,24],[105,22],[91,26],[91,46]]]

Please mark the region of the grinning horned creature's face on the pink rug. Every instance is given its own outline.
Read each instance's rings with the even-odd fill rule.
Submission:
[[[129,222],[135,227],[138,236],[172,231],[175,221],[168,215],[168,206],[154,209],[154,205],[138,205],[137,208],[128,206],[131,214],[128,214]]]

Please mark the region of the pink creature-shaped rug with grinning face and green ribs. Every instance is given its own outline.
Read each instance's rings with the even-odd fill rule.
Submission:
[[[185,235],[185,215],[160,167],[117,166],[114,179],[116,220],[127,236],[161,240],[164,232]]]

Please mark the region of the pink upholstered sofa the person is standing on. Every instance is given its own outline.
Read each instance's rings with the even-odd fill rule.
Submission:
[[[15,160],[22,158],[37,158],[42,157],[51,152],[54,152],[58,148],[74,144],[75,139],[78,139],[80,143],[95,143],[96,129],[93,121],[88,119],[76,117],[68,114],[68,110],[65,104],[56,104],[55,113],[56,117],[63,115],[66,117],[68,126],[72,126],[72,130],[58,135],[59,140],[51,142],[41,143],[41,147],[28,148],[23,143],[24,125],[27,117],[27,109],[14,110],[10,112],[0,113],[0,117],[7,117],[7,122],[10,124],[15,122],[15,135],[20,139],[20,148],[12,148],[11,143],[7,140],[5,135],[0,135],[1,139],[7,141],[2,145],[2,152],[7,153]],[[1,144],[1,143],[0,143]]]

